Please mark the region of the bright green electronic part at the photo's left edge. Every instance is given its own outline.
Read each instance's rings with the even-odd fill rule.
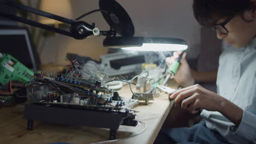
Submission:
[[[0,88],[10,81],[29,82],[33,79],[34,73],[16,58],[0,54]]]

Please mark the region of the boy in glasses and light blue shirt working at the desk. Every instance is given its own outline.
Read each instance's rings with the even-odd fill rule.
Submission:
[[[256,0],[194,0],[197,21],[232,49],[219,58],[217,93],[194,85],[183,55],[175,79],[185,88],[174,105],[205,118],[191,128],[162,130],[155,143],[256,143]]]

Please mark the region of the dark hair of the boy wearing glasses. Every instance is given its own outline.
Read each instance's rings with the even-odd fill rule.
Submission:
[[[212,26],[223,17],[241,15],[246,10],[255,10],[256,3],[250,0],[194,0],[193,10],[195,19],[202,26]]]

